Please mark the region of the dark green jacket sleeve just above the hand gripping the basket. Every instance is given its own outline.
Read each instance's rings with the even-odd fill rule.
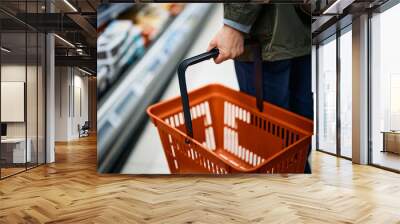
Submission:
[[[224,23],[248,33],[261,7],[260,4],[226,3],[224,4]]]

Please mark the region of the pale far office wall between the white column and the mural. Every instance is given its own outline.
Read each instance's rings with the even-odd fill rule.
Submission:
[[[79,137],[78,124],[88,120],[88,78],[71,67],[56,67],[55,73],[55,140],[70,141]]]

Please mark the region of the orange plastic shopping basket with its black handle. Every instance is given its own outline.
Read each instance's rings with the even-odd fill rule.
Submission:
[[[171,173],[304,173],[311,120],[222,85],[187,93],[186,68],[217,55],[213,49],[184,60],[181,97],[147,110]],[[255,65],[260,68],[261,60]]]

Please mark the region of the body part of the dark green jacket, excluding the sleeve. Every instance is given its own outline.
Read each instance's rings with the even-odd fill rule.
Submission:
[[[288,4],[265,5],[259,13],[250,37],[260,42],[264,61],[311,53],[311,18],[308,23],[295,7]],[[238,59],[252,61],[251,55],[250,49],[245,47],[244,54]]]

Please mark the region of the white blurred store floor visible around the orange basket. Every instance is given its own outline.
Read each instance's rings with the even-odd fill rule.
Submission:
[[[185,58],[203,53],[210,39],[222,26],[222,4],[216,4],[216,9],[204,21],[198,38],[192,43],[191,49]],[[188,90],[199,88],[210,83],[220,83],[225,86],[238,89],[232,61],[216,65],[212,60],[202,62],[188,69]],[[175,74],[161,100],[179,96],[178,77]],[[139,141],[132,149],[121,173],[126,174],[167,174],[168,164],[164,156],[163,148],[157,129],[148,121],[143,128]]]

